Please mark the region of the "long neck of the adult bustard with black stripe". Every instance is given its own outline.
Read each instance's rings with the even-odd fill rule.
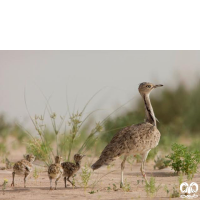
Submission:
[[[146,122],[149,122],[156,126],[156,118],[153,112],[153,107],[151,105],[149,94],[144,94],[143,99],[145,104]]]

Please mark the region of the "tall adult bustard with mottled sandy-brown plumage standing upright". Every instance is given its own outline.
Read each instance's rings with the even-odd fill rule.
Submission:
[[[124,159],[121,163],[121,183],[123,186],[123,171],[125,161],[128,155],[140,154],[142,156],[141,173],[148,183],[145,171],[144,163],[146,161],[149,151],[156,147],[160,140],[160,132],[156,127],[156,117],[151,106],[149,94],[150,92],[163,85],[154,85],[152,83],[141,83],[139,85],[139,92],[144,100],[146,120],[143,123],[132,125],[123,128],[119,131],[110,141],[110,143],[104,148],[99,160],[97,160],[91,168],[96,170],[102,165],[108,165],[111,161],[117,157],[124,155]]]

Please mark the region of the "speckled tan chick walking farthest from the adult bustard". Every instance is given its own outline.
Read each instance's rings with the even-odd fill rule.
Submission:
[[[35,156],[32,154],[28,154],[25,156],[25,159],[22,159],[18,162],[16,162],[13,166],[13,173],[12,173],[12,183],[11,186],[15,186],[15,174],[24,176],[24,187],[26,187],[26,178],[32,171],[32,163],[35,160]]]

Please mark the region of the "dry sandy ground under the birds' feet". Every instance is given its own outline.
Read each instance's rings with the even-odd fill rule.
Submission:
[[[21,150],[24,152],[24,149]],[[12,154],[10,157],[11,161],[17,161],[22,158],[21,153]],[[91,160],[85,159],[85,162],[91,162]],[[60,179],[58,182],[57,190],[49,190],[49,179],[47,176],[47,169],[39,167],[35,162],[35,167],[39,171],[39,177],[37,180],[33,177],[33,173],[28,177],[27,180],[27,188],[23,188],[23,178],[16,175],[15,179],[15,187],[10,187],[12,181],[12,170],[0,170],[0,184],[3,182],[4,178],[8,179],[8,184],[5,190],[5,194],[3,195],[2,187],[0,187],[0,199],[1,200],[38,200],[38,199],[56,199],[56,200],[129,200],[129,199],[170,199],[167,197],[167,193],[164,190],[164,186],[170,190],[172,193],[172,188],[174,185],[178,186],[178,177],[173,174],[173,172],[169,169],[163,170],[154,170],[153,163],[147,163],[146,174],[147,177],[155,177],[156,185],[161,184],[161,188],[157,192],[157,194],[150,198],[147,196],[145,192],[144,183],[142,184],[142,177],[140,174],[140,164],[135,163],[133,166],[126,163],[124,178],[131,186],[130,192],[125,192],[123,189],[119,189],[119,182],[120,182],[120,162],[121,160],[118,159],[114,166],[107,168],[102,167],[99,170],[95,171],[91,175],[91,179],[89,185],[92,184],[95,180],[99,179],[103,175],[109,173],[105,177],[103,177],[99,183],[92,188],[91,186],[84,189],[78,183],[76,183],[77,187],[73,188],[71,185],[68,185],[68,188],[64,188],[64,181]],[[83,161],[84,165],[84,161]],[[0,166],[4,166],[3,163],[0,163]],[[81,182],[80,177],[81,170],[77,173],[76,179],[78,182]],[[138,181],[140,183],[138,184]],[[187,181],[184,177],[184,181]],[[190,183],[189,181],[187,181]],[[193,182],[196,182],[200,185],[200,174],[196,174]],[[117,191],[113,190],[113,184],[116,184]],[[109,187],[111,189],[109,189]],[[95,193],[90,194],[89,192],[94,191]],[[197,192],[197,195],[200,196],[200,193]],[[168,195],[169,196],[169,195]],[[174,199],[181,199],[180,197]]]

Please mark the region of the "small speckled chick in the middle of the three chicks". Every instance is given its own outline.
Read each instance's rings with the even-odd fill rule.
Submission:
[[[62,157],[61,156],[55,156],[55,163],[51,164],[49,166],[48,169],[48,176],[49,176],[49,180],[50,180],[50,190],[52,190],[52,179],[56,179],[55,180],[55,190],[57,188],[57,182],[60,179],[60,177],[62,176],[63,173],[63,169],[61,166],[61,161],[62,161]]]

